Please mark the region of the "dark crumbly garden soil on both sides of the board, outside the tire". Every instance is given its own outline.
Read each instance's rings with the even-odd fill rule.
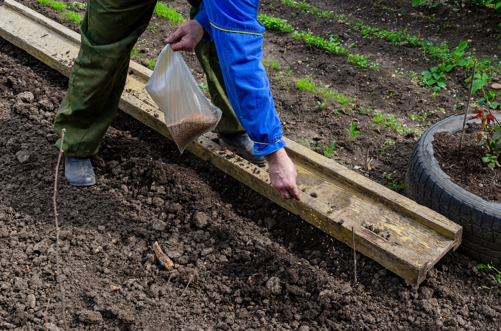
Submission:
[[[38,6],[31,0],[22,3],[35,9]],[[186,17],[186,3],[170,3]],[[341,8],[344,12],[353,9],[350,11],[355,13],[358,2],[312,3],[328,6],[336,13]],[[364,3],[370,6],[369,1]],[[395,1],[377,5],[384,3],[390,8],[401,5]],[[263,10],[271,9],[273,4],[274,8],[283,7],[283,15],[292,12],[275,1],[263,4]],[[403,19],[391,26],[403,28],[412,19],[416,24],[417,19],[424,19],[408,15],[410,10],[416,10],[410,4],[404,8],[408,11]],[[485,26],[485,10],[470,9],[475,10],[473,14],[461,11],[462,16],[457,19],[469,20],[477,15],[479,24]],[[386,15],[382,9],[370,10],[367,22],[374,24],[380,15],[396,15]],[[52,18],[59,13],[44,14]],[[451,17],[456,19],[456,15]],[[294,23],[301,29],[321,29],[306,13],[298,13],[297,17],[303,19]],[[321,20],[320,25],[327,24],[325,31],[339,29],[336,33],[349,28],[346,24],[329,23]],[[75,24],[69,26],[77,30]],[[174,27],[162,20],[154,36],[145,32],[141,39],[149,44],[136,45],[144,47],[141,56],[156,57],[163,47],[161,29],[166,35]],[[473,37],[466,37],[487,38],[481,35],[475,30]],[[410,78],[405,75],[391,77],[397,68],[410,68],[404,64],[407,57],[400,54],[416,49],[389,47],[381,40],[365,41],[368,44],[361,44],[360,51],[379,52],[377,56],[384,64],[380,71],[352,69],[344,58],[327,56],[317,49],[302,47],[290,35],[268,31],[265,59],[279,59],[282,66],[297,68],[293,74],[297,78],[309,74],[316,81],[330,83],[339,92],[357,95],[359,105],[394,114],[409,126],[428,125],[455,113],[452,105],[457,100],[446,91],[433,99],[425,88],[412,86],[406,90]],[[279,50],[286,45],[285,53]],[[432,63],[422,62],[420,56],[410,54],[407,56],[418,59],[408,61],[412,70],[419,72],[431,66]],[[203,82],[196,57],[191,53],[184,55],[197,81]],[[299,65],[298,60],[303,63]],[[455,73],[451,76],[456,77]],[[336,115],[333,110],[338,105],[315,108],[314,95],[297,92],[294,83],[284,87],[276,74],[270,71],[272,91],[288,137],[306,139],[312,144],[315,135],[323,134],[321,141],[328,143],[336,139],[338,153],[333,158],[350,167],[361,164],[362,150],[372,142],[371,155],[377,160],[370,177],[386,184],[381,174],[387,172],[396,179],[395,183],[402,181],[415,137],[401,136],[391,128],[374,133],[376,127],[370,124],[372,111],[368,114],[354,109],[350,114]],[[457,74],[453,82],[464,95],[461,79],[465,73]],[[50,329],[58,330],[63,325],[54,273],[52,185],[58,151],[52,146],[57,134],[51,121],[67,83],[66,77],[0,39],[2,329],[44,330],[48,298]],[[365,90],[367,86],[371,86],[370,90]],[[419,97],[417,90],[422,91]],[[389,98],[390,92],[395,97]],[[290,105],[294,107],[291,109]],[[438,107],[444,107],[446,113],[439,111],[418,123],[409,119],[411,113]],[[344,128],[353,118],[358,119],[355,122],[362,133],[350,142]],[[386,139],[394,143],[381,152]],[[62,171],[59,178],[62,276],[72,330],[501,328],[499,284],[493,274],[478,271],[476,262],[450,252],[429,271],[420,286],[413,286],[378,263],[357,256],[359,285],[353,287],[349,247],[207,162],[187,152],[179,155],[173,142],[121,111],[93,163],[95,186],[72,187]],[[402,178],[400,182],[398,177]],[[152,248],[155,241],[184,267],[167,271],[160,265]],[[161,321],[194,274],[186,295]],[[111,285],[120,288],[113,290]],[[481,286],[492,290],[479,289]]]

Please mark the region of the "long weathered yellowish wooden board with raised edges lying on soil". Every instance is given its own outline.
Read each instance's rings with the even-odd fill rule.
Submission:
[[[0,7],[0,17],[0,36],[70,74],[77,33],[13,0]],[[133,61],[130,69],[120,108],[170,138],[163,113],[144,89],[151,70]],[[242,159],[214,136],[199,137],[187,150],[350,246],[353,227],[358,251],[413,283],[461,242],[459,225],[287,138],[302,201],[284,200],[270,185],[266,166]]]

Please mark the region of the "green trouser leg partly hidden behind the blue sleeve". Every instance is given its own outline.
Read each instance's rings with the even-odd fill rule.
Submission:
[[[188,2],[191,4],[190,18],[193,19],[198,13],[198,6],[202,1],[188,0]],[[209,87],[211,101],[222,111],[221,120],[219,120],[213,132],[222,134],[245,132],[229,103],[215,43],[204,39],[200,40],[195,47],[195,54],[207,77],[207,86]]]

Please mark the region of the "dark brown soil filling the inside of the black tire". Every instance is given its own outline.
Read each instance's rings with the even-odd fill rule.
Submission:
[[[465,132],[474,135],[478,130],[481,130],[480,124],[470,124]],[[498,182],[501,169],[489,169],[487,163],[482,162],[486,150],[477,146],[474,140],[470,141],[470,136],[464,139],[462,152],[457,157],[460,134],[461,132],[450,135],[447,132],[438,132],[433,135],[433,154],[440,167],[450,176],[452,182],[468,192],[487,201],[501,202],[501,184]]]

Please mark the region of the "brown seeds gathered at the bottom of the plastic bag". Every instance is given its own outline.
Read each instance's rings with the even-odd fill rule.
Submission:
[[[217,118],[201,114],[191,115],[184,118],[180,123],[167,126],[177,148],[182,152],[194,139],[205,133],[217,123]]]

